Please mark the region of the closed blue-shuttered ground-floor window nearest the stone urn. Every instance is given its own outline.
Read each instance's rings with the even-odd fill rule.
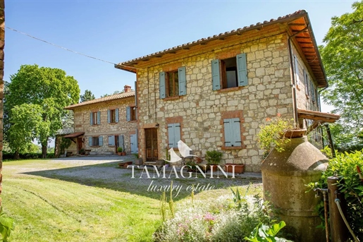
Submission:
[[[224,146],[239,147],[242,146],[240,133],[240,119],[223,119],[224,123]]]

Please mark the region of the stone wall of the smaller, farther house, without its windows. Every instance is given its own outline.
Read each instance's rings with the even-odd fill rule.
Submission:
[[[88,104],[82,107],[75,107],[75,132],[85,132],[83,135],[83,147],[86,150],[92,150],[97,154],[105,152],[116,152],[116,147],[109,146],[109,135],[124,135],[125,152],[130,154],[130,135],[136,133],[137,121],[126,121],[126,107],[135,107],[135,97],[116,99],[108,102],[97,104]],[[118,109],[118,123],[107,123],[107,110]],[[99,125],[90,125],[90,112],[101,111],[101,123]],[[103,145],[99,147],[90,147],[88,137],[102,136]]]

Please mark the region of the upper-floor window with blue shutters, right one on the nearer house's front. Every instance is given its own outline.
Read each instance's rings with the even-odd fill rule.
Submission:
[[[213,90],[242,87],[248,84],[246,54],[211,61]]]

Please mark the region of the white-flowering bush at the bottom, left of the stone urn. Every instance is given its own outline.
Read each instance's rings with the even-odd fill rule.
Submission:
[[[185,201],[175,217],[154,233],[154,241],[243,241],[259,223],[270,225],[271,209],[259,196],[245,196],[239,203],[223,195],[214,200]]]

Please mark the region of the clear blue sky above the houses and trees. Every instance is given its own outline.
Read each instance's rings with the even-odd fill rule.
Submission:
[[[6,0],[6,26],[76,52],[118,63],[305,9],[318,44],[331,17],[353,1],[17,1]],[[61,68],[96,97],[135,74],[6,29],[5,75],[22,64]]]

